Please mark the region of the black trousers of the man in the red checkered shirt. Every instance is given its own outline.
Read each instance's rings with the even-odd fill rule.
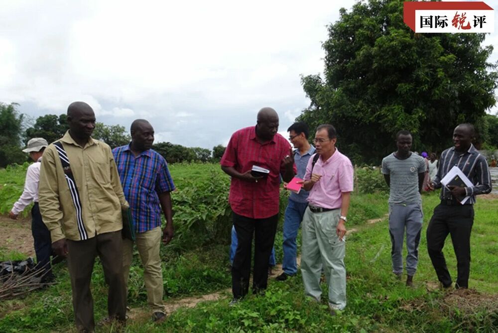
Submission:
[[[252,234],[254,234],[254,269],[252,292],[266,289],[268,261],[275,240],[278,214],[266,219],[249,219],[234,213],[234,226],[239,244],[232,265],[232,292],[241,299],[249,291]]]

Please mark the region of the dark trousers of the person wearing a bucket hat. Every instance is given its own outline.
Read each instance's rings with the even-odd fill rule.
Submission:
[[[35,202],[31,208],[31,234],[34,240],[34,251],[36,253],[36,269],[48,271],[44,274],[44,280],[50,280],[52,275],[52,267],[50,265],[50,255],[52,254],[52,240],[50,231],[41,219],[40,208]]]

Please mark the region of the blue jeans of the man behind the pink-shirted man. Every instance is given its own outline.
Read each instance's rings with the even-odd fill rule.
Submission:
[[[295,275],[297,273],[297,231],[303,221],[304,212],[308,203],[298,203],[289,199],[285,209],[283,222],[283,261],[282,269],[285,274]]]

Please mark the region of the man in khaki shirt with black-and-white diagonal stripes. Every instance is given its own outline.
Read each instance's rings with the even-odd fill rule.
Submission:
[[[109,319],[125,321],[121,212],[128,204],[111,148],[90,137],[95,128],[92,108],[72,103],[67,121],[69,130],[43,155],[39,206],[54,252],[68,257],[76,327],[94,332],[90,280],[97,255],[109,284]]]

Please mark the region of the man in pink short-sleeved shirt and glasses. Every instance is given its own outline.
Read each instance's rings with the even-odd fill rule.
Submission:
[[[301,273],[304,293],[320,301],[323,263],[329,284],[331,314],[346,307],[346,267],[344,266],[346,216],[353,191],[353,165],[335,147],[336,129],[320,125],[315,134],[319,155],[308,162],[303,188],[310,191],[302,222]]]

